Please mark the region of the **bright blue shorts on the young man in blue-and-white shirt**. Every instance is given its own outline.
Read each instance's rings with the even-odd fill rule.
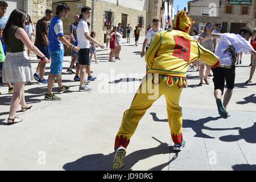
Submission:
[[[51,55],[51,71],[53,75],[61,75],[61,71],[63,68],[63,57],[64,57],[64,49],[60,50],[50,50]]]

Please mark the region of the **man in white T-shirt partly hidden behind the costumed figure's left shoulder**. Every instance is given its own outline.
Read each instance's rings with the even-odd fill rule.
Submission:
[[[141,51],[141,57],[143,57],[145,55],[145,47],[146,47],[146,52],[148,47],[150,47],[151,42],[153,41],[153,39],[155,38],[155,35],[158,34],[158,32],[162,32],[163,29],[159,28],[159,19],[153,19],[152,21],[153,23],[153,28],[151,28],[150,30],[148,30],[147,34],[146,34],[146,38],[144,39],[143,42],[143,46],[142,46],[142,51]],[[146,66],[146,72],[147,72],[148,68]]]

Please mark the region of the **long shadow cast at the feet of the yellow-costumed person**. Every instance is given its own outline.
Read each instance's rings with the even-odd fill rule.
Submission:
[[[157,140],[157,139],[156,139]],[[160,142],[160,141],[159,141]],[[124,171],[131,171],[132,167],[139,162],[139,160],[150,158],[154,155],[159,154],[171,154],[175,153],[176,155],[167,163],[161,164],[159,166],[149,169],[149,171],[160,171],[164,167],[168,166],[172,161],[174,161],[178,153],[175,152],[172,146],[168,146],[167,143],[160,142],[159,146],[153,148],[147,148],[143,150],[135,151],[125,157],[125,167],[122,168]],[[67,163],[63,166],[63,169],[67,171],[113,171],[112,163],[114,160],[114,152],[104,155],[104,154],[92,154],[83,156],[80,159],[77,159],[75,162]]]

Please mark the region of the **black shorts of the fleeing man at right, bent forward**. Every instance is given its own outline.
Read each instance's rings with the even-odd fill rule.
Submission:
[[[225,80],[226,80],[226,87],[228,89],[234,88],[234,81],[236,77],[235,66],[233,66],[231,69],[222,68],[222,67],[212,68],[212,72],[213,72],[214,90],[220,89],[223,94]]]

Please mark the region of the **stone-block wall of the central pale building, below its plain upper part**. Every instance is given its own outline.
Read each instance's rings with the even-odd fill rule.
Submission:
[[[81,14],[81,6],[89,6],[92,7],[91,0],[80,0],[75,2],[65,2],[71,7],[71,11],[69,11],[68,18],[63,20],[64,26],[64,34],[69,34],[69,26],[74,22],[74,16],[77,14]],[[58,3],[52,3],[53,14],[55,14],[56,6]],[[104,11],[112,11],[114,14],[114,26],[117,23],[122,22],[122,14],[127,14],[127,23],[134,29],[138,24],[138,16],[143,16],[144,22],[143,27],[141,28],[141,36],[146,34],[146,11],[139,11],[135,9],[130,9],[127,7],[119,6],[114,3],[107,3],[102,1],[95,1],[94,5],[94,31],[96,31],[96,40],[98,42],[104,43],[104,38],[106,34],[106,27],[104,27]],[[92,24],[92,17],[89,19],[89,23]],[[122,25],[126,27],[125,24]],[[133,34],[131,34],[133,37]]]

